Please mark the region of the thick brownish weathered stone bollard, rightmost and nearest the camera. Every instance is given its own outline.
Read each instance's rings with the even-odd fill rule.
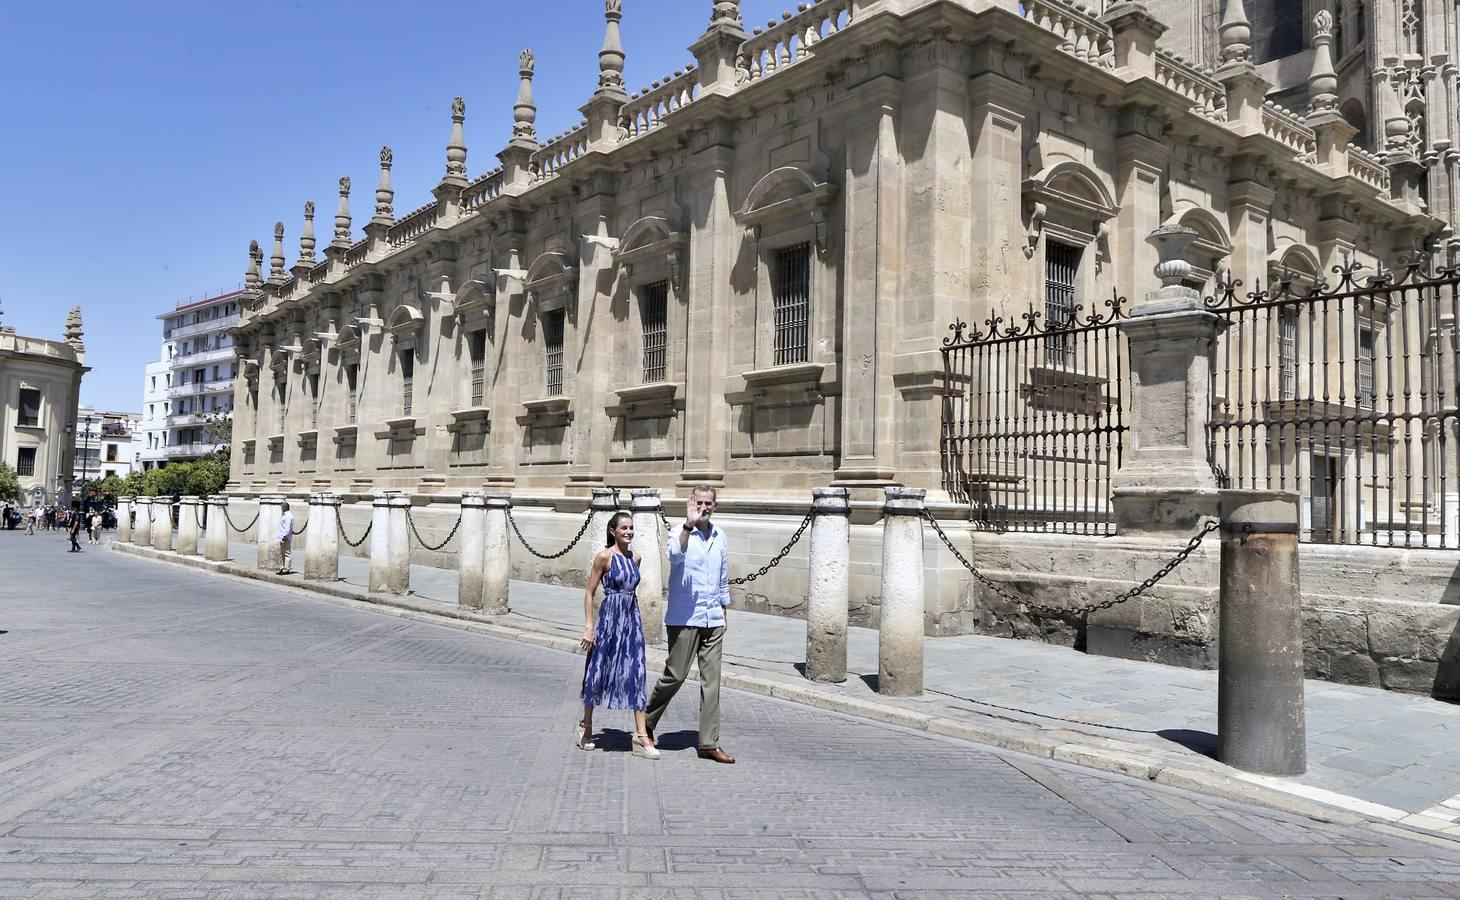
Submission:
[[[1223,492],[1218,619],[1218,760],[1259,774],[1301,774],[1308,752],[1298,494]]]

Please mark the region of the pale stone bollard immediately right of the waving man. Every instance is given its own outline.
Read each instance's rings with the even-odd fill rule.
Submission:
[[[847,681],[847,587],[851,565],[851,491],[812,489],[806,565],[806,678]]]

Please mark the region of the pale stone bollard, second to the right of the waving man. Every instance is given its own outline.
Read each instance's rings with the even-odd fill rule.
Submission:
[[[883,488],[877,693],[923,693],[923,488]]]

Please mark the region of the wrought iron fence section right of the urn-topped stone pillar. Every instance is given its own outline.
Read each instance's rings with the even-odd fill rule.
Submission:
[[[1333,273],[1204,301],[1229,323],[1212,463],[1229,487],[1298,491],[1305,541],[1460,549],[1460,269]]]

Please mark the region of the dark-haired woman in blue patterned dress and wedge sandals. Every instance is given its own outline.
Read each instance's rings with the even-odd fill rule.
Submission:
[[[615,513],[609,519],[609,545],[593,558],[588,587],[583,595],[583,649],[588,662],[583,669],[583,720],[578,722],[578,750],[596,750],[593,707],[634,710],[634,755],[657,760],[658,750],[644,726],[648,706],[644,665],[644,622],[638,614],[639,558],[629,549],[634,517]],[[593,621],[593,595],[603,584],[599,621]]]

